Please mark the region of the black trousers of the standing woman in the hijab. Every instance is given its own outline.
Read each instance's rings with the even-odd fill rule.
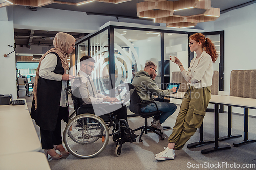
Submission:
[[[40,128],[42,149],[53,149],[53,145],[62,144],[61,121],[63,119],[63,109],[66,109],[66,107],[59,107],[57,124],[54,131]]]

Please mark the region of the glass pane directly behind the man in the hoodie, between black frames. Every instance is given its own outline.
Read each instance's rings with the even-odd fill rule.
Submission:
[[[131,83],[135,72],[144,69],[147,61],[153,61],[159,68],[160,34],[155,31],[114,29],[115,87],[119,98],[124,97],[126,92],[123,82]]]

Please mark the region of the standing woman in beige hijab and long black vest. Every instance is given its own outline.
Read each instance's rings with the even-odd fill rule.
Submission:
[[[40,127],[42,149],[52,159],[69,155],[62,145],[61,121],[68,122],[68,102],[65,87],[74,78],[68,75],[67,55],[75,47],[75,38],[69,34],[56,34],[53,45],[40,59],[33,88],[31,117]],[[56,150],[61,154],[57,154]]]

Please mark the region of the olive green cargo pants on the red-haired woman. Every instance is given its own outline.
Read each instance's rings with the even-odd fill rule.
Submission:
[[[183,97],[173,132],[169,137],[169,142],[175,143],[175,150],[182,149],[190,137],[194,135],[197,128],[200,128],[210,98],[210,87],[188,87]]]

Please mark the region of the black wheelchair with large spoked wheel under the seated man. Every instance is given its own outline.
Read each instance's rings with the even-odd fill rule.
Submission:
[[[69,89],[70,87],[66,88],[66,90]],[[113,113],[106,112],[104,107],[108,103],[93,106],[82,104],[82,99],[73,94],[72,100],[75,111],[69,116],[69,122],[63,132],[63,142],[72,155],[79,158],[95,157],[105,149],[110,136],[112,136],[113,142],[116,143],[115,155],[119,156],[123,143],[136,141],[138,135],[132,138],[134,132],[129,128],[126,120],[118,120]],[[101,112],[103,115],[96,116],[87,113],[88,108],[93,109],[95,113]],[[112,133],[110,133],[111,129]],[[121,137],[122,129],[126,132],[123,137]]]

